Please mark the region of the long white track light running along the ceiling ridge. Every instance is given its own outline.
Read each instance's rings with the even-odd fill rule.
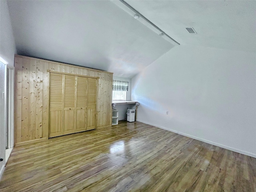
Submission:
[[[144,17],[140,12],[138,12],[136,9],[134,9],[132,6],[126,3],[124,0],[119,0],[119,1],[113,0],[112,2],[115,3],[117,6],[119,6],[120,8],[122,8],[124,11],[128,12],[135,19],[138,19],[138,21],[140,21],[142,24],[150,28],[152,31],[156,32],[159,36],[162,36],[162,38],[164,38],[168,42],[174,45],[180,45],[176,40],[171,38],[168,34],[166,34],[163,30],[161,30],[158,26],[156,26],[154,23],[152,23],[150,20]]]

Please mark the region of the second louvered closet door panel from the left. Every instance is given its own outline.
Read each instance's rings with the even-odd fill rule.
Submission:
[[[64,75],[64,126],[63,135],[74,133],[76,128],[76,76]]]

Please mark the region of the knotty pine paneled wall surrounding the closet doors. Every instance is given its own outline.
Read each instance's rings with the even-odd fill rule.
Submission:
[[[112,124],[113,73],[15,55],[14,143],[48,138],[49,76],[47,70],[99,77],[97,128]]]

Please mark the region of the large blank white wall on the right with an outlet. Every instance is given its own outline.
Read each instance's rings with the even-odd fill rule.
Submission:
[[[255,53],[177,46],[132,78],[132,100],[138,121],[256,157]]]

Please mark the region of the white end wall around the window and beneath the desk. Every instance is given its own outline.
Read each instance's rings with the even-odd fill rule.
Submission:
[[[113,76],[114,80],[120,80],[120,81],[128,81],[129,82],[129,88],[128,88],[128,92],[126,92],[126,101],[130,101],[131,100],[131,90],[132,90],[132,84],[131,84],[131,79],[129,78],[122,78],[122,77],[116,77]],[[118,110],[119,115],[118,115],[118,120],[124,120],[127,118],[127,108],[129,109],[133,109],[134,108],[134,104],[122,104],[122,105],[116,105],[115,109]]]

